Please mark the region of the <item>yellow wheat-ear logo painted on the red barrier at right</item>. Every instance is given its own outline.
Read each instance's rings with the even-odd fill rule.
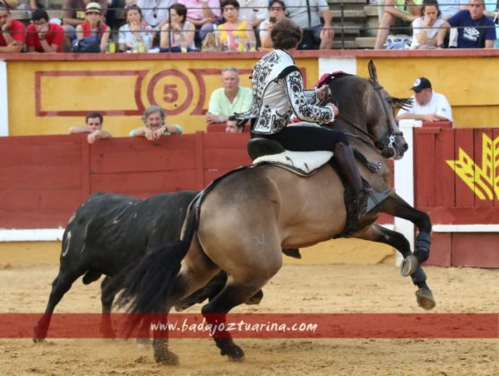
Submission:
[[[492,141],[483,133],[482,167],[462,149],[459,159],[446,162],[480,200],[494,200],[494,196],[499,200],[499,137]]]

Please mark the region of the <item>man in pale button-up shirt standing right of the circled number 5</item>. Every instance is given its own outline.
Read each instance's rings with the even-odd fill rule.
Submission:
[[[245,112],[253,102],[253,91],[239,86],[239,73],[234,67],[222,69],[222,88],[211,93],[206,122],[225,123],[228,116]]]

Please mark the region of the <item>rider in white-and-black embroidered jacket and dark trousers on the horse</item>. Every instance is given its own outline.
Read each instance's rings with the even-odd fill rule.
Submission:
[[[367,190],[345,133],[321,126],[288,126],[293,114],[305,122],[323,125],[330,124],[338,115],[333,104],[318,105],[327,99],[327,85],[317,90],[304,89],[302,74],[293,59],[301,38],[301,28],[289,19],[272,28],[274,49],[254,65],[253,104],[237,117],[251,119],[252,138],[278,141],[284,149],[292,151],[332,151],[344,182],[353,191],[350,204],[357,210],[358,223],[358,218],[366,214]]]

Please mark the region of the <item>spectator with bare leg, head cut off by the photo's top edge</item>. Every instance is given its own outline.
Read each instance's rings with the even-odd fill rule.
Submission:
[[[396,21],[403,26],[409,26],[409,22],[417,19],[421,14],[421,4],[423,0],[386,0],[374,48],[383,48],[390,34],[390,28],[396,24]]]

